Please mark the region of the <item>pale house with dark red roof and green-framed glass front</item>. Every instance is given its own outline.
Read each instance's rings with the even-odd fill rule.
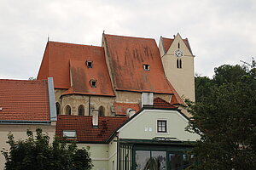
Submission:
[[[188,125],[176,106],[156,98],[130,116],[60,115],[56,135],[88,148],[93,169],[172,170],[189,167],[187,151],[200,138]]]

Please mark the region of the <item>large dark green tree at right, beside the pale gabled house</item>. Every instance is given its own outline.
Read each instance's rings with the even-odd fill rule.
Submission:
[[[256,79],[253,69],[222,65],[215,76],[195,77],[196,103],[187,130],[201,139],[192,151],[194,169],[256,169]],[[204,81],[204,82],[203,82]],[[199,85],[199,82],[201,85]]]

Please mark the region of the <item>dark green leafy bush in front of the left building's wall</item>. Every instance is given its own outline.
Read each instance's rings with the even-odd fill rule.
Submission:
[[[6,170],[90,170],[93,166],[87,150],[78,149],[75,143],[55,139],[49,144],[49,136],[39,128],[35,137],[30,130],[26,134],[26,140],[15,141],[9,133],[10,150],[2,150]]]

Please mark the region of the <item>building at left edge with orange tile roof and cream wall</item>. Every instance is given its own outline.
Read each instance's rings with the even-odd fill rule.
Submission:
[[[41,128],[50,139],[55,136],[55,91],[48,80],[0,80],[0,148],[9,150],[8,134],[15,140],[26,139],[26,130]],[[0,156],[0,169],[5,158]]]

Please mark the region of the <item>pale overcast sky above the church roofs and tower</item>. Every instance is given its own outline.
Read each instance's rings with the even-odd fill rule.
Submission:
[[[102,31],[188,37],[195,73],[256,56],[255,0],[0,0],[0,78],[37,77],[47,37],[101,46]]]

